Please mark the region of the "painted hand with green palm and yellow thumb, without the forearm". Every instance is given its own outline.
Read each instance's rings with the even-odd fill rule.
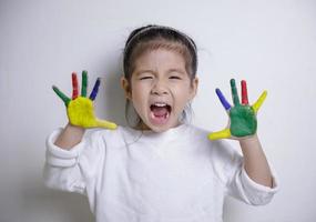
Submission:
[[[228,125],[222,131],[212,132],[208,134],[210,140],[218,139],[235,139],[241,140],[245,137],[251,137],[256,133],[257,130],[257,119],[256,114],[263,104],[267,92],[264,91],[258,100],[253,104],[248,104],[247,85],[246,81],[242,81],[242,104],[239,103],[239,98],[237,94],[237,89],[235,80],[231,80],[232,97],[234,101],[234,107],[232,107],[222,94],[220,89],[216,89],[216,94],[221,100],[221,103],[227,111],[230,117]]]

